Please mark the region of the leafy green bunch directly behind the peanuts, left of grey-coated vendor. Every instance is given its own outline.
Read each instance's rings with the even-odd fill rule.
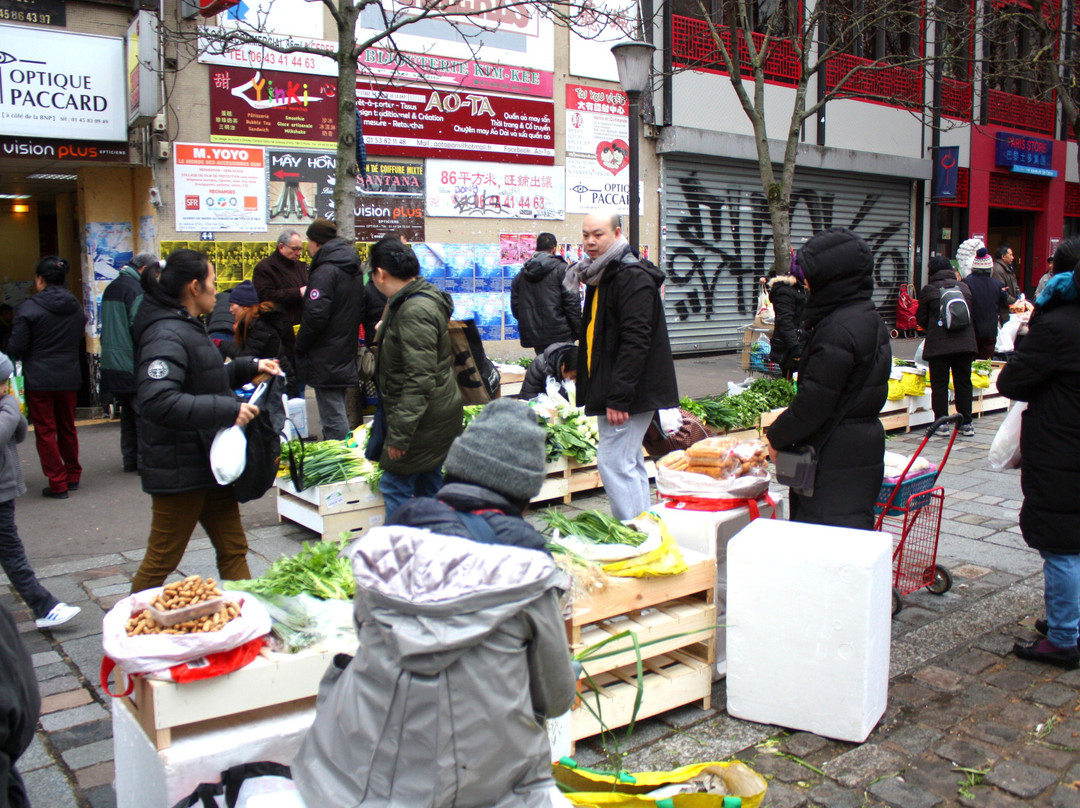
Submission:
[[[345,542],[303,542],[296,555],[283,555],[261,578],[222,581],[226,589],[257,595],[298,595],[308,593],[325,600],[351,600],[356,592],[352,565],[339,553]]]

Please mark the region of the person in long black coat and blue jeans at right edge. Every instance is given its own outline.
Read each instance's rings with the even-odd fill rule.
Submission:
[[[1080,238],[1054,253],[1054,267],[1077,267]],[[1043,561],[1047,634],[1013,650],[1024,659],[1080,664],[1080,272],[1058,271],[1050,299],[1036,307],[1030,329],[998,377],[998,390],[1026,401],[1021,429],[1020,529]],[[1040,298],[1041,299],[1041,298]],[[1043,624],[1040,625],[1040,622]]]

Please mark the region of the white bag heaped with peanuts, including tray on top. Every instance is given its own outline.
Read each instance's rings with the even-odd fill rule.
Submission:
[[[269,633],[270,615],[258,598],[189,576],[117,603],[102,621],[102,646],[124,673],[152,673]]]

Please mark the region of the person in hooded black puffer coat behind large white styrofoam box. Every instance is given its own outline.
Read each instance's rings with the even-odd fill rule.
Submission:
[[[853,232],[833,228],[810,239],[798,261],[810,291],[807,342],[798,393],[769,428],[771,454],[800,444],[818,450],[813,496],[792,491],[793,522],[869,530],[885,473],[878,413],[892,365],[889,332],[870,300],[874,258]]]

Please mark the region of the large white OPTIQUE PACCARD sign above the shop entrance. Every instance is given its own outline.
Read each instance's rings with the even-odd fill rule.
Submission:
[[[126,142],[124,40],[0,25],[0,134]]]

